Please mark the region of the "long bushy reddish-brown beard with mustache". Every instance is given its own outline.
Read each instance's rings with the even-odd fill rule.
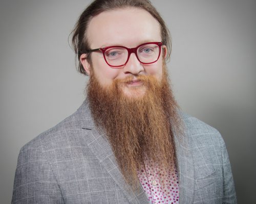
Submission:
[[[182,131],[166,68],[161,82],[146,75],[136,78],[146,87],[141,97],[127,97],[122,91],[132,78],[102,87],[92,72],[88,84],[94,121],[103,127],[122,175],[132,186],[137,186],[137,171],[145,161],[166,170],[175,164],[174,134]],[[136,94],[138,90],[132,91]]]

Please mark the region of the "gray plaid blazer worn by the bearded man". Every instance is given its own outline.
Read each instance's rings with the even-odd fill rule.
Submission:
[[[179,203],[237,203],[225,143],[217,130],[182,114],[175,138]],[[148,203],[125,184],[111,146],[95,128],[87,101],[20,150],[12,203]]]

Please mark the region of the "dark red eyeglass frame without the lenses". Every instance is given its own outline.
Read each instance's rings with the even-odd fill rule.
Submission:
[[[146,44],[156,44],[156,45],[158,45],[158,47],[159,47],[159,54],[158,54],[157,59],[156,59],[154,62],[144,63],[144,62],[141,62],[140,59],[139,59],[139,57],[138,57],[137,49],[138,49],[140,46],[143,46],[143,45],[146,45]],[[105,60],[105,62],[106,62],[106,64],[108,64],[108,65],[111,66],[111,67],[122,67],[122,66],[124,66],[124,65],[129,61],[130,56],[131,56],[132,53],[134,53],[134,54],[136,55],[136,57],[137,57],[137,59],[139,60],[140,63],[142,63],[142,64],[152,64],[152,63],[155,63],[156,61],[158,61],[158,59],[159,59],[159,57],[160,57],[160,55],[161,55],[161,46],[162,46],[162,45],[163,45],[162,42],[145,42],[145,43],[142,43],[142,44],[138,45],[137,47],[133,47],[133,48],[128,48],[128,47],[120,46],[120,45],[116,45],[116,46],[113,45],[113,46],[107,46],[107,47],[102,47],[102,48],[97,48],[97,49],[90,49],[90,50],[87,50],[87,52],[86,52],[85,54],[89,54],[89,53],[101,51],[101,52],[102,52],[102,55],[103,55],[103,57],[104,57],[104,60]],[[125,49],[127,50],[128,56],[127,56],[127,60],[126,60],[126,62],[125,62],[124,64],[119,65],[119,66],[113,66],[113,65],[110,65],[110,64],[108,63],[108,61],[106,61],[105,52],[106,52],[107,49],[113,48],[113,47],[125,48]]]

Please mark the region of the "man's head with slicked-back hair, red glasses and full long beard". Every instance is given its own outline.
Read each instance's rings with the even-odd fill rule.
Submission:
[[[80,72],[90,75],[94,121],[126,181],[138,181],[145,160],[172,165],[180,119],[165,65],[170,38],[156,9],[147,0],[96,0],[81,14],[73,43]]]

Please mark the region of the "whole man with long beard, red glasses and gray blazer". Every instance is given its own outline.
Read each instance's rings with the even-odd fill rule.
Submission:
[[[73,44],[87,99],[20,150],[12,203],[236,203],[219,132],[179,111],[149,1],[94,1]]]

